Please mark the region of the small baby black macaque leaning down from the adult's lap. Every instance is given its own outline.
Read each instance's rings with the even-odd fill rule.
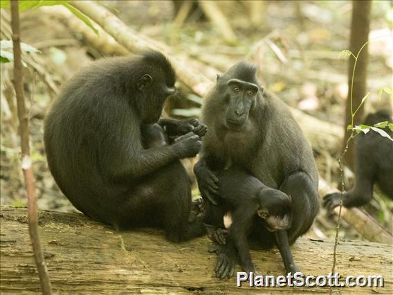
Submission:
[[[227,244],[228,251],[239,258],[241,268],[255,272],[248,247],[248,235],[253,231],[265,233],[286,230],[292,220],[291,197],[281,190],[268,188],[259,179],[237,168],[219,172],[219,205],[206,204],[206,224],[217,226],[213,240]],[[229,224],[223,222],[228,218]],[[227,220],[226,220],[227,221]],[[228,236],[221,231],[228,229]],[[267,231],[266,231],[267,230]],[[221,236],[223,234],[224,236]],[[217,265],[216,276],[228,275],[230,265]],[[232,276],[230,269],[229,276]]]

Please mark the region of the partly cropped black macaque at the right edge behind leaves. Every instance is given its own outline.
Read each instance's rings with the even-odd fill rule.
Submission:
[[[365,125],[388,121],[392,115],[387,110],[369,114]],[[393,138],[393,132],[385,128]],[[358,134],[355,138],[355,184],[354,188],[344,193],[342,204],[345,207],[359,207],[371,201],[373,186],[377,184],[382,193],[393,199],[393,143],[388,138],[370,130],[367,134]],[[332,193],[324,197],[324,206],[328,211],[340,205],[341,193]]]

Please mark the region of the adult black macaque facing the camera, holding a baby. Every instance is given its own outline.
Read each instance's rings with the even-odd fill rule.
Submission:
[[[259,86],[255,71],[254,66],[239,62],[217,77],[202,109],[202,121],[209,132],[203,137],[194,172],[203,199],[212,204],[218,204],[221,195],[217,173],[230,166],[291,196],[289,229],[272,233],[264,226],[254,226],[248,239],[257,249],[277,244],[286,271],[294,273],[298,267],[290,245],[309,230],[319,209],[316,163],[289,108]],[[222,245],[216,271],[220,278],[230,277],[236,258],[232,247]]]

